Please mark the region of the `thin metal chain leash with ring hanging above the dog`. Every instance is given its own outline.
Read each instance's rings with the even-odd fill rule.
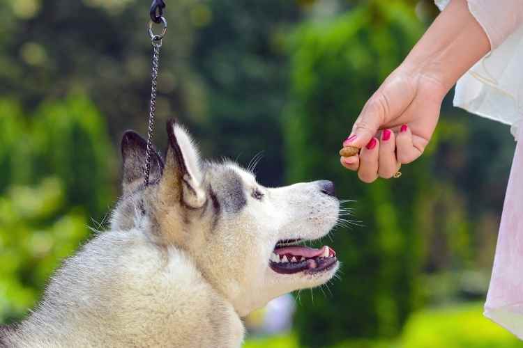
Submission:
[[[154,1],[153,1],[154,5]],[[167,19],[158,17],[163,24],[162,33],[153,33],[153,20],[149,22],[149,36],[153,45],[153,68],[151,83],[151,103],[149,104],[149,127],[147,129],[147,150],[145,154],[145,186],[149,184],[149,175],[151,173],[151,151],[153,150],[154,118],[156,116],[156,93],[158,86],[158,70],[160,69],[160,47],[162,47],[162,38],[167,31]]]

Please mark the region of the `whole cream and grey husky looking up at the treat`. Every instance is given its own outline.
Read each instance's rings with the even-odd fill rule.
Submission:
[[[330,280],[333,249],[298,242],[335,226],[332,182],[269,189],[233,162],[204,162],[188,132],[167,123],[165,162],[123,135],[123,195],[110,230],[63,262],[6,347],[240,347],[241,317]]]

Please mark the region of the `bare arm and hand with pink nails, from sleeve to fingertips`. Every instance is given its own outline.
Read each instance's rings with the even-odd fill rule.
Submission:
[[[363,182],[391,177],[420,157],[438,122],[444,96],[490,51],[490,41],[466,0],[451,0],[405,61],[365,104],[344,146],[361,148],[341,157]],[[382,132],[380,132],[382,131]]]

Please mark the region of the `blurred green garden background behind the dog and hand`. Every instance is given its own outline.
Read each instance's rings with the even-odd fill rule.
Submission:
[[[515,148],[451,106],[400,180],[358,182],[338,150],[363,104],[437,15],[429,0],[166,0],[156,144],[176,117],[206,157],[259,182],[335,181],[356,200],[328,287],[246,319],[245,347],[522,347],[482,316]],[[149,0],[0,1],[0,323],[103,230],[119,140],[146,133]]]

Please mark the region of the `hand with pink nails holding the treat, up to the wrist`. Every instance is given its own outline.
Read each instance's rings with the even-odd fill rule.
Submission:
[[[361,148],[341,157],[363,182],[390,178],[401,164],[425,150],[439,118],[447,88],[431,74],[400,66],[367,101],[344,146]]]

